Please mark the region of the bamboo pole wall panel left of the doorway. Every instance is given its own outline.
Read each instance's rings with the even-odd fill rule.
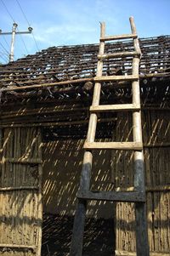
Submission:
[[[42,151],[38,128],[5,128],[1,144],[0,255],[41,255]]]

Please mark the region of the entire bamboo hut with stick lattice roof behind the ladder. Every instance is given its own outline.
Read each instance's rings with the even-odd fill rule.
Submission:
[[[170,252],[170,36],[139,39],[150,252]],[[106,43],[107,52],[133,42]],[[0,255],[69,255],[98,44],[53,47],[0,66]],[[105,60],[130,74],[132,57]],[[131,102],[129,82],[103,82],[102,104]],[[101,113],[96,139],[126,141],[131,115]],[[132,152],[95,151],[92,188],[133,189]],[[91,201],[84,255],[135,255],[133,203]],[[42,247],[42,253],[41,253]]]

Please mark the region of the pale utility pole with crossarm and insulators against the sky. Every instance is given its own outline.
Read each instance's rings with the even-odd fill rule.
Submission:
[[[14,23],[13,24],[13,27],[12,27],[12,32],[2,32],[2,30],[0,30],[0,36],[1,35],[11,35],[11,45],[10,45],[10,54],[9,54],[9,58],[8,58],[8,61],[11,62],[11,61],[14,61],[14,40],[15,40],[15,35],[16,34],[31,34],[31,31],[32,31],[32,28],[31,26],[28,27],[28,31],[20,31],[20,32],[17,32],[16,31],[16,28],[17,28],[17,24]]]

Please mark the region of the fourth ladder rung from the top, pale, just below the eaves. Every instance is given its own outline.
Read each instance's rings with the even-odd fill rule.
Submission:
[[[117,105],[97,105],[91,106],[92,112],[105,112],[105,111],[139,111],[140,105],[134,104],[117,104]]]

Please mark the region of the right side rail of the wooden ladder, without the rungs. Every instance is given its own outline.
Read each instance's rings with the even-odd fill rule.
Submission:
[[[132,33],[137,33],[133,17],[130,17]],[[133,45],[136,51],[141,53],[139,48],[139,39],[133,39]],[[133,58],[133,75],[139,75],[139,57]],[[133,104],[140,105],[139,80],[132,82]],[[142,125],[141,110],[133,112],[133,141],[142,143]],[[144,184],[144,153],[143,151],[134,151],[134,187],[136,191],[145,193]],[[137,256],[150,256],[150,247],[148,242],[148,228],[146,217],[145,202],[135,203],[136,219],[136,250]]]

